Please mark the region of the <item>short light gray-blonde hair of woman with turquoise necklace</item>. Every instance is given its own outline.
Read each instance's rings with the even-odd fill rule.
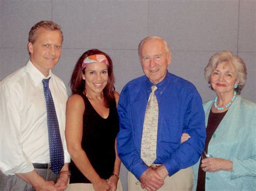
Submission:
[[[235,91],[240,94],[242,88],[244,88],[246,83],[246,66],[245,62],[241,58],[234,55],[230,51],[221,51],[211,57],[208,65],[205,67],[205,79],[208,81],[208,83],[210,83],[212,70],[215,69],[221,62],[231,63],[237,70],[237,79],[239,83],[238,87],[235,88]]]

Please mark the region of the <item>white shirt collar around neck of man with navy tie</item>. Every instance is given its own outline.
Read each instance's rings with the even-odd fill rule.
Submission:
[[[29,60],[28,63],[26,63],[26,70],[31,76],[32,81],[35,83],[36,86],[39,84],[42,84],[43,79],[48,79],[52,76],[51,70],[49,71],[49,74],[47,77],[45,77]]]

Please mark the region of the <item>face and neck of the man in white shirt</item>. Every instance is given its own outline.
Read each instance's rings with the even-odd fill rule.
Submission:
[[[29,43],[28,48],[33,65],[44,76],[48,76],[49,70],[59,61],[62,51],[62,34],[60,31],[51,31],[41,27],[37,31],[35,43]]]

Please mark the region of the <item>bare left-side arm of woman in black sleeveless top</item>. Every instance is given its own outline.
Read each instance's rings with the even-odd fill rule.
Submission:
[[[107,190],[106,180],[101,179],[81,146],[83,136],[83,114],[85,106],[80,95],[71,95],[66,104],[65,137],[71,159],[80,172],[89,179],[95,190]],[[71,172],[72,173],[72,172]]]

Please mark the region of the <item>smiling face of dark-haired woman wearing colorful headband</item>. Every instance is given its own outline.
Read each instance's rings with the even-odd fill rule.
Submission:
[[[93,62],[85,68],[85,79],[86,92],[91,93],[102,93],[106,87],[109,75],[107,73],[107,65],[103,62]]]

